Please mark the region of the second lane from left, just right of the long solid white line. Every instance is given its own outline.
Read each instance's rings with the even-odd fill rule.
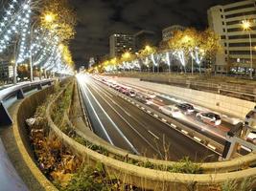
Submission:
[[[128,141],[136,149],[137,154],[144,155],[147,157],[154,157],[158,155],[159,151],[151,147],[147,141],[141,135],[137,134],[133,129],[134,124],[131,124],[125,114],[122,114],[119,110],[114,108],[114,103],[112,100],[107,100],[107,97],[102,92],[97,92],[93,85],[89,85],[90,91],[98,99],[102,107],[107,108],[107,114],[112,118],[116,126],[119,128],[120,132],[124,135],[120,138],[120,141]],[[134,152],[134,151],[133,151]]]

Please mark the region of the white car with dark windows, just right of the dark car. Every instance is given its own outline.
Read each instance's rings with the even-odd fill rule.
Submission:
[[[211,123],[216,126],[221,125],[221,117],[212,112],[199,112],[196,117],[206,123]]]

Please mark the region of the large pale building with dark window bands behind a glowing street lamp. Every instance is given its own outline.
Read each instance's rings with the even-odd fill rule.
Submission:
[[[255,0],[218,5],[210,8],[207,13],[209,27],[221,36],[222,51],[216,55],[215,70],[225,73],[233,68],[248,73],[251,56],[252,68],[255,70]]]

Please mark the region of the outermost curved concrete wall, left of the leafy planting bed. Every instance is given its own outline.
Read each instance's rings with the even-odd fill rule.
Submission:
[[[54,86],[48,87],[32,96],[26,97],[14,111],[13,115],[13,141],[16,141],[19,152],[19,162],[22,163],[19,174],[30,190],[57,191],[56,187],[45,178],[35,165],[34,154],[28,138],[25,120],[35,114],[37,106],[43,103],[45,98],[54,92]],[[23,167],[22,167],[23,166]]]

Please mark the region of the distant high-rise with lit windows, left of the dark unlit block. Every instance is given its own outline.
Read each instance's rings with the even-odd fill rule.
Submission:
[[[114,33],[109,37],[109,56],[118,57],[122,53],[134,52],[134,36],[131,34]]]

